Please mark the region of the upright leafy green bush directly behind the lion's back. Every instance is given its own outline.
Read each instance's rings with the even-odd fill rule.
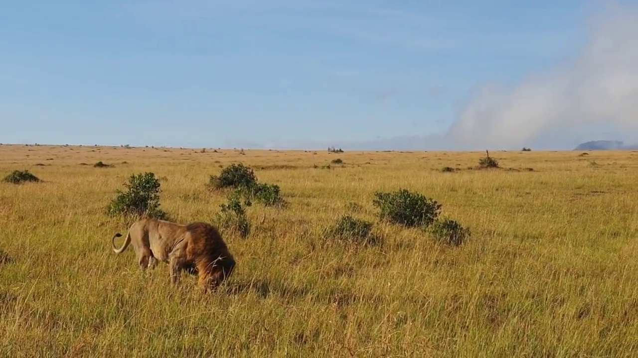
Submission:
[[[131,175],[124,183],[126,192],[117,190],[115,197],[107,207],[108,215],[135,215],[149,218],[167,219],[168,214],[159,208],[159,180],[154,173],[146,172]]]

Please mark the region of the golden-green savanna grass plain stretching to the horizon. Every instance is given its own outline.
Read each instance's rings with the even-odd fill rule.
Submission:
[[[0,176],[42,182],[0,183],[0,356],[635,357],[638,153],[490,155],[501,169],[473,168],[484,152],[1,145]],[[218,292],[112,252],[129,222],[105,207],[131,174],[159,178],[176,221],[210,222],[226,193],[205,183],[232,162],[289,204],[246,208]],[[400,188],[471,237],[380,220],[375,192]],[[325,236],[345,213],[382,243]]]

